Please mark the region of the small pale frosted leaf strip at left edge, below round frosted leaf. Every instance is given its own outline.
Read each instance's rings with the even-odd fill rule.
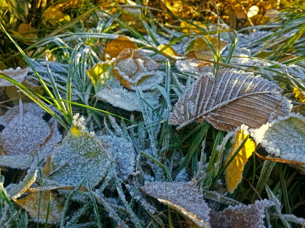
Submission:
[[[27,169],[31,166],[33,157],[29,155],[0,156],[0,166],[13,169]]]

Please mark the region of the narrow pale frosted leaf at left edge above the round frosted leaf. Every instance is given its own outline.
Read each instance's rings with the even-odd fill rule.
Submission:
[[[26,112],[32,112],[34,113],[35,116],[38,117],[43,117],[46,113],[44,109],[42,109],[38,104],[36,103],[24,103],[22,104],[22,107],[19,105],[16,105],[12,108],[9,108],[6,112],[5,115],[0,116],[0,124],[6,126],[10,121],[20,115],[20,109],[22,110],[23,113]]]

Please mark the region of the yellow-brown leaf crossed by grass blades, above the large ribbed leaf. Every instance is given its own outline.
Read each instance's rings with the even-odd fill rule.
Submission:
[[[215,36],[204,36],[215,49],[217,53],[218,48],[218,39]],[[226,49],[228,42],[220,40],[220,54]],[[188,58],[197,58],[197,59],[212,59],[213,53],[208,44],[204,41],[202,37],[197,37],[192,41],[187,47],[187,56]]]

